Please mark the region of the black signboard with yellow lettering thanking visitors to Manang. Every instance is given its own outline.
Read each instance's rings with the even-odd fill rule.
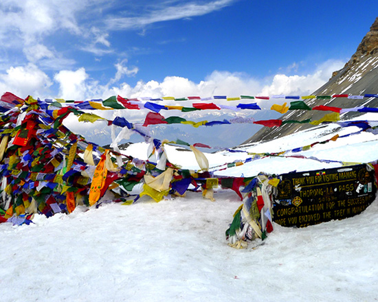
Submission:
[[[375,171],[368,165],[289,173],[274,196],[274,222],[283,227],[307,227],[355,216],[376,195]]]

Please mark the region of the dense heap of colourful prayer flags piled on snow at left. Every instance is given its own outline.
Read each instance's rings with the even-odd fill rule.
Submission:
[[[251,180],[214,178],[195,146],[190,148],[201,165],[197,172],[171,164],[164,143],[151,137],[157,162],[106,150],[63,126],[75,108],[51,111],[46,102],[12,93],[1,97],[0,106],[0,222],[29,224],[35,213],[49,217],[71,213],[78,205],[99,205],[107,191],[112,200],[126,204],[144,195],[157,202],[168,194],[183,196],[190,185],[210,199],[218,185],[241,196],[239,188]],[[142,191],[131,195],[137,184],[142,184]]]

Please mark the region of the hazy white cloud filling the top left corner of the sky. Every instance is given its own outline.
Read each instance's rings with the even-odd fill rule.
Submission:
[[[12,51],[23,49],[28,62],[36,64],[41,59],[49,59],[53,62],[74,61],[64,58],[63,52],[47,49],[44,45],[47,38],[59,39],[62,34],[72,34],[82,38],[80,45],[89,45],[87,48],[82,47],[83,49],[91,49],[91,52],[96,51],[97,54],[108,54],[109,51],[102,50],[101,52],[98,47],[93,46],[99,44],[110,47],[110,42],[107,40],[109,34],[91,26],[93,21],[88,22],[85,19],[85,16],[90,15],[94,19],[96,14],[101,14],[99,7],[106,2],[106,0],[69,2],[65,0],[2,0],[0,2],[0,43]],[[59,51],[65,48],[65,45],[59,45],[59,43],[56,43],[56,46]]]

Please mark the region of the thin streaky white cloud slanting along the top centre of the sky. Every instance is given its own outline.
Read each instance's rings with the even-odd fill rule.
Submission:
[[[107,25],[112,30],[126,30],[144,27],[145,25],[162,21],[188,19],[192,16],[203,16],[204,14],[221,10],[234,3],[234,1],[235,0],[216,0],[203,4],[191,1],[182,5],[171,5],[164,8],[156,7],[155,9],[148,10],[148,12],[144,15],[142,14],[142,16],[108,18]],[[168,1],[167,3],[171,4],[172,1]]]

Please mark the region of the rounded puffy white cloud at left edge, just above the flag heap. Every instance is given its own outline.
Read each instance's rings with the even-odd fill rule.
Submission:
[[[0,74],[0,91],[10,91],[20,97],[46,95],[51,85],[48,75],[32,63],[23,67],[10,67],[6,73]]]

